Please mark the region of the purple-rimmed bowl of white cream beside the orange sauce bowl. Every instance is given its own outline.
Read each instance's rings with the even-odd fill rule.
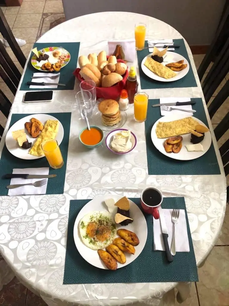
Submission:
[[[132,151],[137,144],[137,138],[133,132],[127,129],[116,129],[106,137],[108,150],[115,154],[126,154]]]

